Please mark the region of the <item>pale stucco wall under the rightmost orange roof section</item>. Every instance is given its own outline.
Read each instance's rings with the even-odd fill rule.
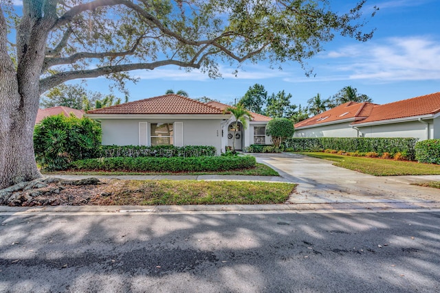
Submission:
[[[429,123],[429,138],[434,135],[434,128],[431,120]],[[382,124],[375,126],[358,127],[363,137],[415,137],[419,140],[428,139],[427,127],[419,121],[409,121],[393,124]]]

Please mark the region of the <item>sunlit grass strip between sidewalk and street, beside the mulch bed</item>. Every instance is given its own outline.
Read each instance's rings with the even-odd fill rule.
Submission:
[[[282,204],[292,183],[204,180],[111,180],[90,204]]]

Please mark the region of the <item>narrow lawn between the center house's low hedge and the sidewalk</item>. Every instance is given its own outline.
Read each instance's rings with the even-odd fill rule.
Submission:
[[[278,172],[276,172],[271,167],[256,163],[254,168],[250,169],[239,169],[239,170],[230,170],[230,171],[222,171],[222,172],[105,172],[105,171],[57,171],[57,172],[44,172],[46,175],[248,175],[248,176],[280,176]]]

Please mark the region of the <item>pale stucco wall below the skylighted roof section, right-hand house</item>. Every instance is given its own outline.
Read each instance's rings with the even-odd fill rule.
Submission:
[[[358,130],[351,128],[350,122],[295,129],[294,137],[358,137]]]

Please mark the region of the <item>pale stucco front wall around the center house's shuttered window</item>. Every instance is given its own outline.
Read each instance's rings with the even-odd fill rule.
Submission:
[[[184,145],[212,145],[221,151],[221,119],[100,119],[103,145],[139,145],[140,122],[183,123]],[[149,136],[149,134],[147,134]],[[175,133],[175,135],[178,135]],[[149,141],[149,139],[148,139]]]

